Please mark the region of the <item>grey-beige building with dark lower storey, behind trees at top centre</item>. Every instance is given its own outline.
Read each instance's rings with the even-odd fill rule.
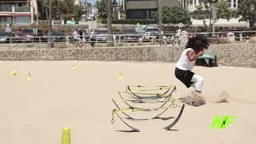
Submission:
[[[179,6],[178,0],[160,0],[161,6]],[[158,0],[126,0],[126,19],[153,19]]]

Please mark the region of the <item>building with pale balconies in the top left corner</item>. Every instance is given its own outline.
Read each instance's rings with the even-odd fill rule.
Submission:
[[[0,0],[0,26],[30,25],[38,20],[36,0]]]

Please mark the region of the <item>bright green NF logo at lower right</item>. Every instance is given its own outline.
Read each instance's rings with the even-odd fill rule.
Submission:
[[[210,127],[215,128],[217,126],[219,129],[226,129],[226,126],[234,123],[234,121],[232,121],[234,118],[236,117],[230,115],[215,116]]]

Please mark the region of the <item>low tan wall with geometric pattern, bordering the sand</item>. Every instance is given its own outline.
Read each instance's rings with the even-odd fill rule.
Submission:
[[[96,49],[0,50],[0,60],[101,60],[176,62],[184,46],[149,46]],[[256,44],[210,46],[207,53],[216,54],[218,64],[256,67]]]

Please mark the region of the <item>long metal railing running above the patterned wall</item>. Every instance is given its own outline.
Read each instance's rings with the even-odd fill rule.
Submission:
[[[230,34],[233,33],[233,36],[230,37]],[[215,36],[211,37],[210,33],[188,33],[187,37],[202,34],[206,36],[212,44],[222,44],[227,42],[246,42],[250,38],[254,38],[256,36],[256,31],[225,31],[225,32],[215,32]],[[163,39],[159,39],[160,34],[113,34],[111,37],[113,40],[111,42],[114,43],[114,46],[121,46],[124,43],[138,43],[138,46],[141,45],[159,45],[159,41]],[[162,34],[167,38],[171,38],[176,33],[170,34]],[[29,43],[35,45],[43,45],[43,44],[57,44],[57,43],[64,43],[67,46],[72,47],[70,44],[74,43],[92,43],[95,44],[102,44],[108,41],[108,35],[96,35],[94,39],[90,38],[90,35],[82,35],[79,38],[74,38],[74,36],[52,36],[51,41],[48,42],[48,36],[41,34],[40,36],[31,36],[26,35],[22,37],[2,37],[0,35],[0,43]],[[256,39],[256,38],[255,38]],[[256,40],[255,40],[256,41]],[[184,44],[184,43],[183,43]],[[1,45],[0,45],[1,46]]]

